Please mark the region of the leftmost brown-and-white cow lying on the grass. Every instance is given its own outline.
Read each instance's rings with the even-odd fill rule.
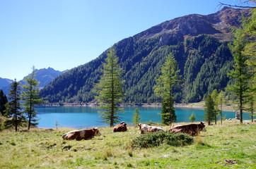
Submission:
[[[67,132],[62,135],[62,139],[71,140],[81,140],[81,139],[92,139],[94,136],[100,136],[100,131],[97,127],[91,129],[83,129],[83,130],[73,130],[71,132]]]

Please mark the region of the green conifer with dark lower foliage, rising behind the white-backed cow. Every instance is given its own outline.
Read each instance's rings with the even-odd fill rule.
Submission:
[[[163,99],[161,118],[165,125],[171,125],[176,120],[172,90],[182,81],[179,73],[180,70],[178,70],[173,54],[168,54],[161,68],[161,75],[156,77],[156,85],[153,87],[154,92]]]

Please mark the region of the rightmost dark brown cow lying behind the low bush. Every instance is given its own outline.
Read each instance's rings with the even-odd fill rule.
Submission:
[[[185,133],[190,134],[191,136],[198,135],[201,131],[206,132],[204,123],[200,122],[199,124],[190,124],[190,125],[175,125],[168,131],[172,133]]]

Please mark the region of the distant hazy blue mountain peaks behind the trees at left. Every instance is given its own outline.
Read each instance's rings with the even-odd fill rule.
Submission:
[[[42,69],[39,69],[39,70],[35,70],[36,73],[35,73],[35,79],[37,79],[38,82],[40,82],[40,84],[38,85],[38,87],[40,89],[42,89],[43,87],[45,87],[45,85],[49,84],[55,77],[57,77],[58,75],[64,73],[65,71],[61,72],[59,70],[54,70],[53,68],[42,68]],[[25,77],[28,77],[28,76],[25,76]],[[19,81],[21,82],[21,84],[25,84],[25,77],[23,78],[23,80]],[[1,77],[0,77],[0,84],[1,84]],[[4,79],[6,80],[6,84],[5,85],[2,85],[0,87],[0,89],[3,89],[4,91],[4,94],[8,94],[8,88],[10,87],[10,84],[11,82],[13,82],[13,80],[7,80],[7,79]],[[3,83],[4,84],[4,83]]]

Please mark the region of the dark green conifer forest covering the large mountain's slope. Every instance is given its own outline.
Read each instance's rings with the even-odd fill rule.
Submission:
[[[183,87],[177,87],[174,99],[181,102],[197,102],[211,94],[214,89],[223,89],[228,83],[227,73],[232,68],[232,55],[226,42],[219,42],[210,35],[187,39],[185,44],[157,47],[158,38],[136,42],[134,37],[115,44],[125,73],[125,99],[127,104],[161,102],[153,93],[155,77],[161,73],[165,57],[173,52],[178,62]],[[98,82],[105,53],[83,66],[79,66],[54,79],[41,94],[53,102],[91,102],[93,84]],[[68,80],[68,82],[66,82]]]

